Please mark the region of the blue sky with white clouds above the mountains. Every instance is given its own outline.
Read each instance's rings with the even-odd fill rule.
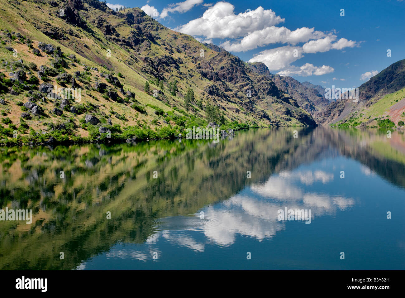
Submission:
[[[113,2],[115,1],[115,2]],[[112,2],[112,3],[110,3]],[[405,58],[405,0],[109,0],[270,72],[355,88]]]

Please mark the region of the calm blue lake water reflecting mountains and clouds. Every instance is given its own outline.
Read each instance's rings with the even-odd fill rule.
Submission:
[[[402,133],[0,150],[0,269],[405,269]]]

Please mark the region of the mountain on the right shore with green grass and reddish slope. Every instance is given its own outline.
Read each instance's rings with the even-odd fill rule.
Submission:
[[[358,102],[341,99],[313,114],[318,124],[336,126],[403,126],[405,59],[371,77],[358,88]]]

